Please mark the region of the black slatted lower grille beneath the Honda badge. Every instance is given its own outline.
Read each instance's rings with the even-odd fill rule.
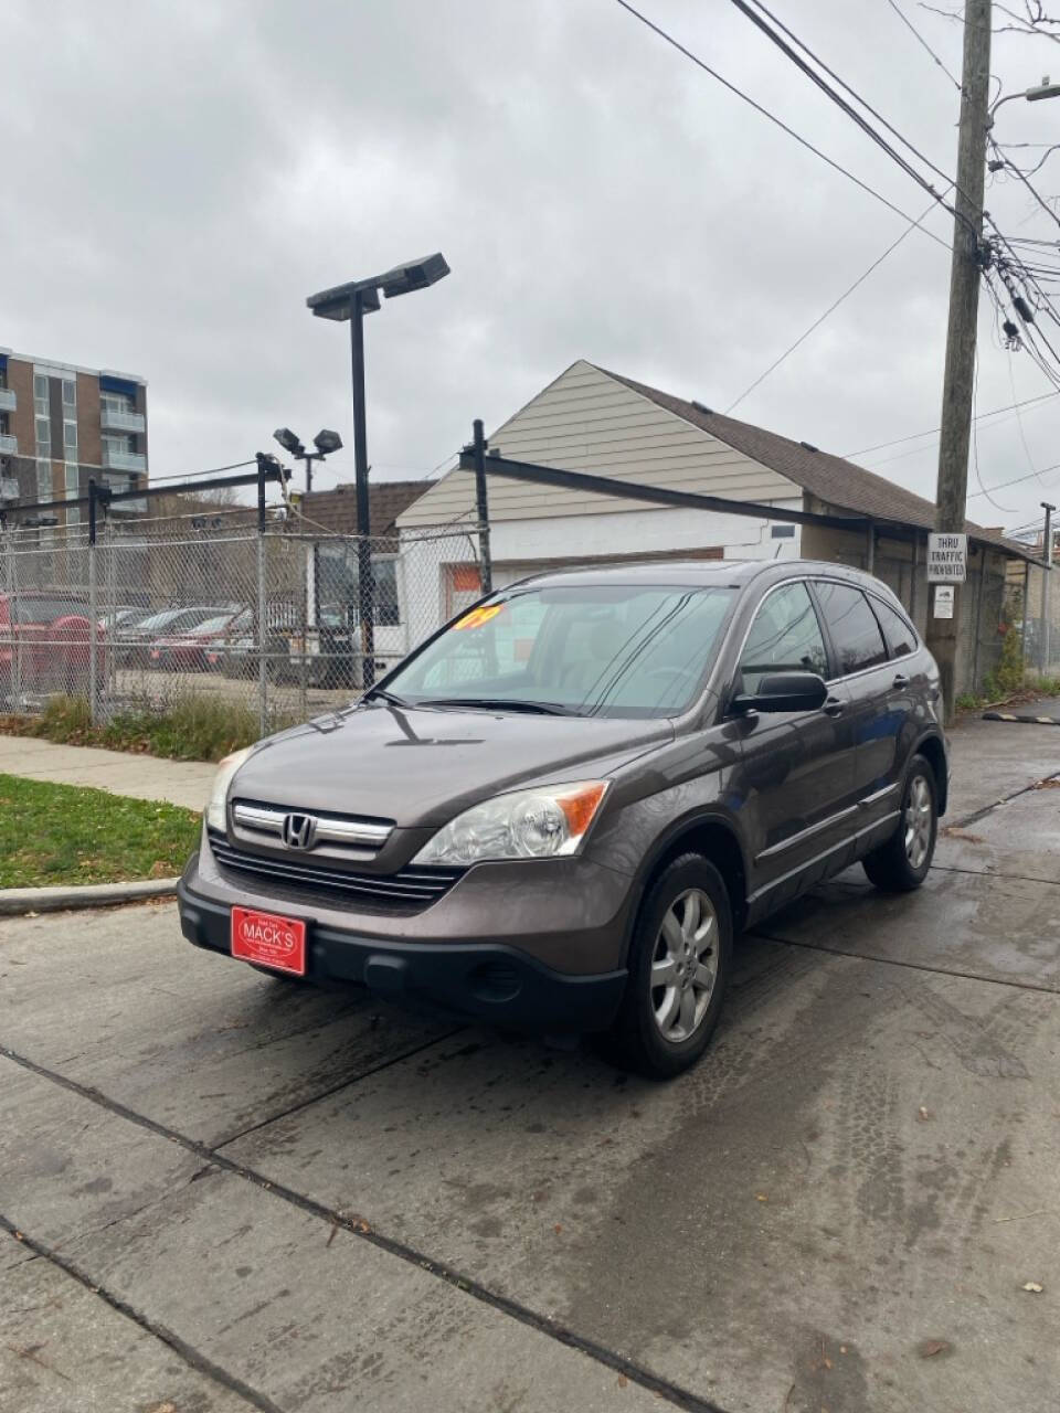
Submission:
[[[269,880],[285,892],[315,894],[346,906],[360,904],[387,913],[418,913],[449,892],[459,869],[425,869],[411,865],[396,873],[355,873],[328,868],[305,855],[250,853],[209,829],[209,848],[225,872],[245,879]]]

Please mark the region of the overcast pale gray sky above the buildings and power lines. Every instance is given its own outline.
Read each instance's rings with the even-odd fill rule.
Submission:
[[[960,73],[960,25],[899,3]],[[924,209],[728,0],[639,8]],[[888,0],[775,8],[954,170],[958,95]],[[1002,35],[994,71],[1023,89],[1054,52]],[[305,297],[411,256],[442,250],[452,274],[366,324],[387,479],[577,357],[725,408],[903,229],[615,0],[7,0],[3,69],[0,345],[147,377],[154,475],[270,448],[278,424],[351,441],[346,328]],[[1060,100],[1006,105],[998,136],[1060,140]],[[1060,235],[1015,182],[987,205],[1009,233]],[[944,212],[929,227],[948,243]],[[841,454],[936,427],[947,290],[947,250],[913,232],[736,415]],[[988,307],[979,348],[981,411],[1049,390]],[[1022,425],[1026,448],[1011,414],[981,428],[988,486],[1060,462],[1060,398]],[[934,448],[861,459],[933,497]],[[322,480],[348,479],[343,452]],[[1050,489],[1060,471],[970,512],[1018,526]]]

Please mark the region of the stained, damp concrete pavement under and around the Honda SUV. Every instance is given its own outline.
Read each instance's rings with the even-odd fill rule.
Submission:
[[[1060,1409],[1049,776],[1054,728],[958,732],[924,889],[745,938],[669,1085],[171,904],[0,923],[0,1407]]]

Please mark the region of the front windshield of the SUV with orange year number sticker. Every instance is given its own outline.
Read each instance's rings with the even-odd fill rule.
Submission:
[[[513,591],[451,623],[386,691],[410,705],[676,715],[701,688],[734,596],[632,584]]]

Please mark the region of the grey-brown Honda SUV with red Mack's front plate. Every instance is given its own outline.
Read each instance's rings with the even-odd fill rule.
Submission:
[[[670,1075],[741,928],[856,859],[923,882],[947,779],[934,660],[866,574],[536,575],[223,762],[181,927],[276,975],[598,1031]]]

